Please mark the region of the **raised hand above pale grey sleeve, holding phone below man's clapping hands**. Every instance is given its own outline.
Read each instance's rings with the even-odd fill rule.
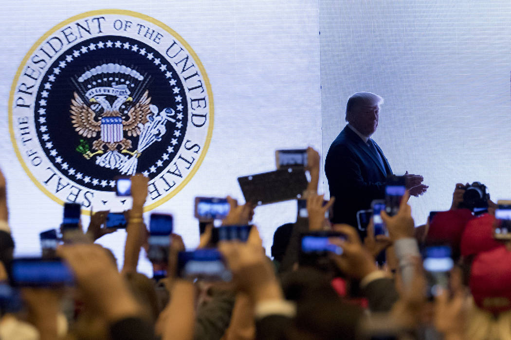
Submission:
[[[384,210],[381,212],[381,217],[387,226],[389,236],[393,242],[396,242],[399,239],[413,237],[414,223],[410,205],[407,203],[408,198],[410,198],[410,195],[408,194],[408,191],[406,191],[403,198],[401,198],[399,211],[396,215],[388,216]]]

